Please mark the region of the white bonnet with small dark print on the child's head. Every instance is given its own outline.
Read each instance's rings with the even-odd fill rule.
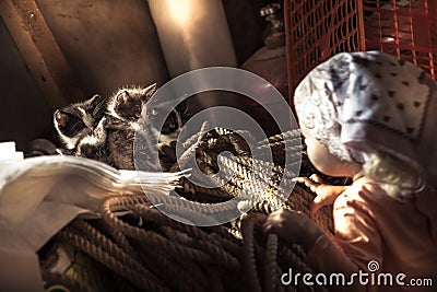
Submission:
[[[342,52],[295,91],[300,126],[330,153],[364,163],[390,153],[437,175],[437,83],[422,69],[379,52]]]

